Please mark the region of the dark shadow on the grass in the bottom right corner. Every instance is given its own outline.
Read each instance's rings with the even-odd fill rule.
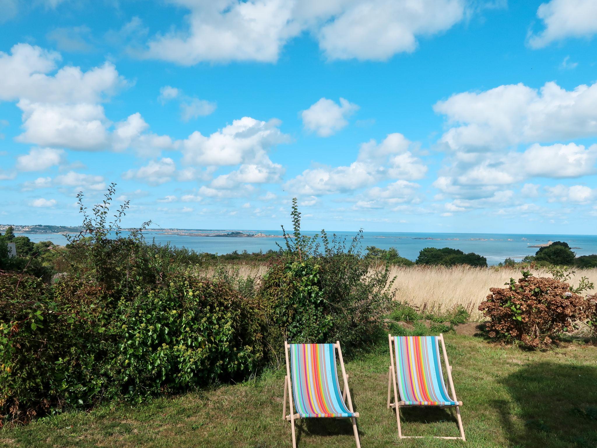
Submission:
[[[499,401],[496,405],[513,446],[597,446],[596,367],[535,363],[501,383],[513,403]]]

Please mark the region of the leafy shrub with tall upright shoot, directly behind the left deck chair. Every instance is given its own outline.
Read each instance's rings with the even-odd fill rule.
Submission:
[[[293,235],[284,231],[286,248],[264,275],[260,289],[270,308],[273,351],[280,350],[285,339],[341,340],[347,353],[371,343],[392,299],[387,268],[369,271],[359,253],[362,234],[348,245],[335,235],[330,241],[325,231],[321,240],[302,235],[296,199],[292,217]]]

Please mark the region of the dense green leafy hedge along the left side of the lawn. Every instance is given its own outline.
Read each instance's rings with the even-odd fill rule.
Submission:
[[[263,311],[217,280],[183,272],[116,302],[88,281],[2,274],[0,294],[7,419],[243,379],[263,361]]]

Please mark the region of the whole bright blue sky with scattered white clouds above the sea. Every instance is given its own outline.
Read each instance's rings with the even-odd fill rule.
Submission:
[[[597,2],[0,0],[0,223],[594,234]]]

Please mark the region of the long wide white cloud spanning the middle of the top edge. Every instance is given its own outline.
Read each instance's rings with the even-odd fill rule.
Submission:
[[[180,65],[201,61],[276,62],[282,47],[305,30],[328,59],[386,60],[411,52],[417,36],[450,29],[464,0],[173,0],[189,10],[186,29],[156,35],[145,57]]]

